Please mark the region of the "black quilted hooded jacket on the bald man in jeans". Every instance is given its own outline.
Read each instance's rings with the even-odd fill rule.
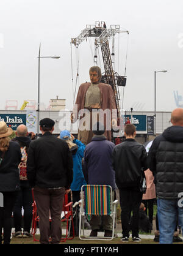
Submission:
[[[171,126],[154,139],[149,169],[155,177],[157,197],[178,198],[183,192],[183,127]]]

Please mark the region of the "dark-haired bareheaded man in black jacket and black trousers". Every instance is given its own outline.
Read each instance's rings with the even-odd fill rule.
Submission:
[[[140,176],[142,168],[147,169],[146,149],[135,141],[136,129],[133,124],[124,127],[126,140],[115,146],[113,151],[113,168],[117,187],[120,190],[121,224],[123,237],[121,241],[129,241],[129,216],[133,212],[132,241],[139,242],[138,221],[139,206],[142,202],[140,192]]]

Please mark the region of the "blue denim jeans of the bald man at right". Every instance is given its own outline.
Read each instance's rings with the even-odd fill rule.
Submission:
[[[157,199],[160,244],[172,244],[177,219],[183,228],[183,207],[178,206],[178,199]]]

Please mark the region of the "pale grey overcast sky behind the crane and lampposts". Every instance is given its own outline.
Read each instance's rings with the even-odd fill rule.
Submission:
[[[173,110],[173,91],[183,98],[182,17],[182,0],[0,0],[0,109],[7,99],[18,100],[19,108],[24,100],[37,100],[40,42],[42,56],[61,56],[41,59],[40,101],[48,107],[49,99],[59,96],[71,109],[71,37],[97,20],[106,21],[108,28],[120,24],[130,32],[124,109],[153,111],[154,70],[166,69],[167,73],[157,73],[157,111]],[[118,42],[117,36],[121,66],[115,67],[124,75],[127,35],[120,36],[119,49]],[[72,48],[75,78],[77,52]],[[89,42],[80,47],[79,63],[79,83],[89,81]]]

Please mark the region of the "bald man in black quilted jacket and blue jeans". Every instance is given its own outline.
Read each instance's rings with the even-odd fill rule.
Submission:
[[[154,174],[160,244],[173,243],[176,222],[183,228],[183,108],[171,113],[171,123],[149,149],[149,169]]]

